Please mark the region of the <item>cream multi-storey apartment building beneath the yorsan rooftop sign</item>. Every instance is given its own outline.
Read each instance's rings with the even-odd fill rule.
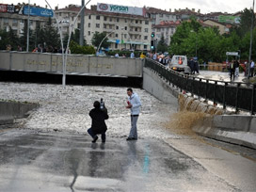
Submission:
[[[105,32],[108,41],[111,42],[110,50],[147,50],[151,49],[152,21],[144,15],[136,15],[120,12],[99,11],[99,7],[91,6],[85,9],[84,36],[88,44],[96,32]],[[110,7],[113,5],[104,4]],[[104,7],[102,6],[102,7]],[[117,8],[117,6],[115,7]],[[118,8],[128,8],[121,7]],[[74,15],[77,14],[80,7],[70,5],[67,8],[57,9],[56,16],[60,20],[69,21],[73,24]],[[142,11],[143,12],[143,11]],[[74,28],[80,28],[80,17]],[[67,26],[67,30],[69,26]],[[67,32],[63,29],[63,32]]]

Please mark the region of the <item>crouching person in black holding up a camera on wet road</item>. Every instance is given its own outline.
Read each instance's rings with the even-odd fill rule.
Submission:
[[[105,132],[107,130],[104,120],[108,119],[107,109],[100,108],[100,102],[94,102],[94,108],[89,111],[91,118],[91,127],[88,129],[88,134],[93,138],[91,142],[95,143],[99,134],[102,135],[102,142],[105,142]]]

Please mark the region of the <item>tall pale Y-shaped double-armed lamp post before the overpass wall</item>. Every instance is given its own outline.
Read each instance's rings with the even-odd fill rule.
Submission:
[[[48,3],[47,0],[45,0],[45,2],[47,3],[47,5],[49,6],[49,8],[52,9],[52,11],[54,12],[55,14],[55,18],[56,18],[56,13],[55,13],[55,10],[50,6],[50,4]],[[90,0],[88,0],[88,3],[90,2]],[[66,48],[66,52],[64,53],[64,46],[63,46],[63,36],[62,36],[62,30],[60,28],[60,21],[57,20],[56,18],[56,24],[57,24],[57,29],[58,29],[58,32],[59,32],[59,35],[60,35],[60,43],[61,43],[61,49],[62,49],[62,87],[65,88],[66,86],[66,66],[67,66],[67,57],[68,57],[68,51],[69,51],[69,44],[70,44],[70,40],[71,40],[71,36],[72,36],[72,29],[73,29],[73,26],[74,24],[76,23],[77,21],[77,18],[78,18],[78,15],[81,13],[82,10],[84,10],[84,8],[88,5],[88,3],[86,5],[84,5],[80,10],[79,12],[77,13],[73,23],[72,23],[72,28],[71,28],[71,24],[69,24],[69,40],[68,40],[68,43],[67,43],[67,48]]]

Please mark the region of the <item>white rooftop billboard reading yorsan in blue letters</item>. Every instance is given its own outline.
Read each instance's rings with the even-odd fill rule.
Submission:
[[[123,13],[123,14],[144,16],[144,11],[143,11],[144,8],[97,3],[97,10],[104,11],[104,12],[113,12],[113,13]]]

